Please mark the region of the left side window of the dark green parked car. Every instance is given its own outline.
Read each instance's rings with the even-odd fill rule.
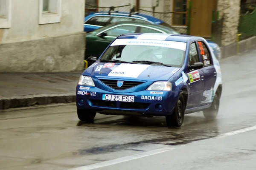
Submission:
[[[105,33],[107,33],[107,36],[117,37],[122,34],[134,33],[136,28],[137,26],[118,26],[105,31]]]

